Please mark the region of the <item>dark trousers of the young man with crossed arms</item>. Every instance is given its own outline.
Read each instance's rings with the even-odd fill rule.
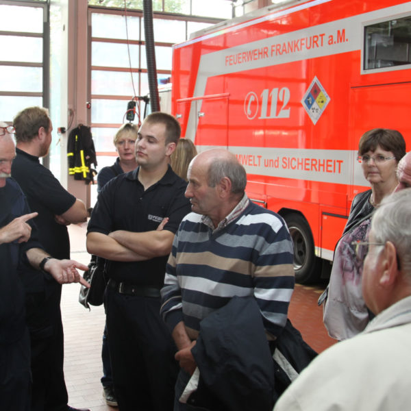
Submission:
[[[105,290],[114,391],[121,411],[172,411],[178,364],[160,297]]]

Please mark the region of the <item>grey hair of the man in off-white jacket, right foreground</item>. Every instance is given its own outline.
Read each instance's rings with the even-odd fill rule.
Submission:
[[[411,277],[411,188],[384,198],[373,215],[371,229],[377,242],[395,245],[401,271]]]

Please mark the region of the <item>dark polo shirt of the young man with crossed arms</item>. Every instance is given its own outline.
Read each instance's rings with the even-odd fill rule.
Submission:
[[[162,179],[145,190],[138,181],[139,170],[138,167],[105,184],[88,222],[88,233],[153,231],[164,217],[169,217],[164,229],[177,232],[179,223],[191,210],[184,197],[187,182],[169,166]],[[140,262],[110,261],[108,276],[119,282],[162,288],[168,258],[169,255]]]

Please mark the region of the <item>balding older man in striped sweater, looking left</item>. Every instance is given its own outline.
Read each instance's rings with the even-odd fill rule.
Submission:
[[[179,350],[176,387],[195,371],[191,349],[200,321],[232,297],[256,298],[267,339],[286,324],[295,284],[290,234],[278,214],[248,199],[246,184],[244,167],[229,151],[203,151],[190,163],[192,212],[175,234],[162,288],[162,316]],[[186,410],[178,398],[176,388],[175,410]]]

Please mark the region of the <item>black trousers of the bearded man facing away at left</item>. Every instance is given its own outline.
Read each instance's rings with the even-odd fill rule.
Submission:
[[[32,348],[32,411],[66,411],[64,334],[60,312],[61,286],[48,282],[46,292],[26,296]]]

